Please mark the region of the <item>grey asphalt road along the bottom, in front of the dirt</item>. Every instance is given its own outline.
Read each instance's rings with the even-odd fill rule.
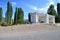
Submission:
[[[60,40],[60,30],[31,32],[28,34],[0,34],[0,40]]]

